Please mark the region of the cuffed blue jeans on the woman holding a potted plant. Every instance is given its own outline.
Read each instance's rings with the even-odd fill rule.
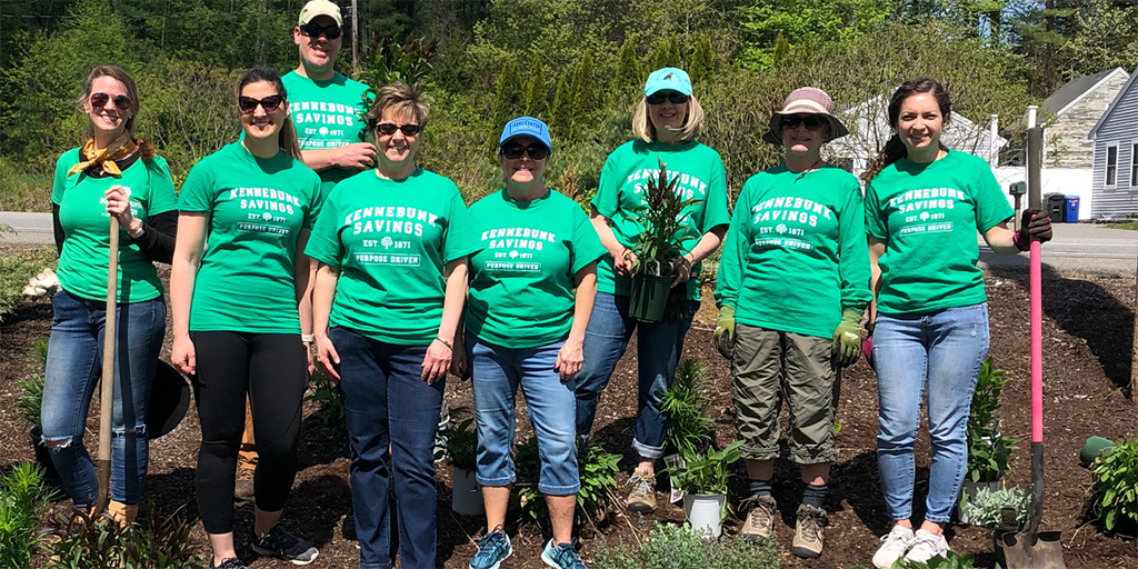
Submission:
[[[574,378],[577,394],[577,435],[588,437],[596,419],[601,391],[609,385],[612,370],[625,353],[633,331],[636,340],[638,397],[633,448],[642,459],[663,456],[663,434],[668,418],[660,412],[663,394],[676,378],[676,365],[684,351],[684,335],[692,325],[699,303],[687,303],[686,318],[679,322],[644,323],[628,315],[628,297],[597,292],[593,315],[585,331],[585,364]]]

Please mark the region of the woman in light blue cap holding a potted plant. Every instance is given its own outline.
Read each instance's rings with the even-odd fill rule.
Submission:
[[[637,512],[655,509],[655,460],[663,455],[668,422],[660,401],[671,386],[684,335],[699,307],[700,262],[719,247],[731,221],[723,159],[695,141],[702,126],[703,109],[687,74],[675,67],[652,72],[633,117],[636,140],[609,155],[592,203],[591,220],[609,254],[597,264],[596,303],[585,332],[585,366],[575,382],[577,434],[587,437],[592,430],[601,391],[638,328],[640,397],[633,448],[640,461],[628,480],[632,492],[626,502]],[[638,214],[644,205],[642,190],[661,162],[673,179],[679,179],[677,191],[695,200],[683,213],[687,250],[673,262],[677,273],[673,288],[683,287],[679,291],[686,310],[679,319],[646,323],[628,314],[636,261],[632,247],[643,231]]]

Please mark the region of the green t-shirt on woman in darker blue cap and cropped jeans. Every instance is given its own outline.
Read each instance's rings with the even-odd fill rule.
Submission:
[[[467,329],[509,348],[553,344],[572,327],[574,278],[604,254],[585,211],[564,195],[529,203],[505,190],[470,206]]]

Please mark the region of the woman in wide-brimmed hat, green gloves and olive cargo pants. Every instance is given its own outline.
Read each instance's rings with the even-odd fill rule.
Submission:
[[[778,412],[790,407],[790,459],[806,490],[792,551],[823,550],[823,508],[834,460],[839,366],[860,352],[869,303],[869,259],[861,188],[827,164],[822,145],[844,137],[833,102],[811,86],[794,90],[762,140],[785,160],[751,176],[735,204],[716,288],[715,344],[731,360],[737,432],[751,504],[749,538],[768,538],[777,517],[770,495],[778,456]]]

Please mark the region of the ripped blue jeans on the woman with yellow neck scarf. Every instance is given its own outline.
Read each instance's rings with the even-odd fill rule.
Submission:
[[[99,479],[83,446],[83,432],[91,396],[102,373],[106,303],[61,290],[51,299],[51,307],[48,365],[43,372],[43,443],[75,508],[89,508],[99,498]],[[159,296],[119,304],[116,312],[110,498],[138,504],[150,450],[146,410],[166,332],[166,304]]]

